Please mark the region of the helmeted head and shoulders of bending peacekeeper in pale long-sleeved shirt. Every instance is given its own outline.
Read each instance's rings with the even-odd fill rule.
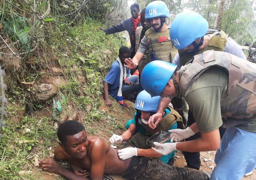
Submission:
[[[179,50],[172,63],[177,65],[178,69],[191,60],[194,55],[212,49],[227,52],[246,60],[242,47],[224,31],[207,33],[209,28],[207,20],[194,11],[178,14],[173,19],[171,27],[170,37],[175,48]],[[188,29],[190,30],[188,31]]]

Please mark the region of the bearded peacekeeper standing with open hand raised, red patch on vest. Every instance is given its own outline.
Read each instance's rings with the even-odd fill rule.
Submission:
[[[150,61],[163,60],[172,62],[177,49],[169,36],[170,28],[166,25],[166,18],[170,12],[163,1],[153,1],[146,6],[145,20],[150,22],[152,28],[148,29],[140,42],[135,56],[125,60],[128,68],[134,69],[138,66],[143,55],[149,50]]]

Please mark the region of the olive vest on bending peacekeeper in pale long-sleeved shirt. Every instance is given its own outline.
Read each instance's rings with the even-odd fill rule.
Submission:
[[[213,36],[211,37],[208,46],[206,46],[204,49],[199,50],[199,52],[195,54],[190,54],[190,53],[187,53],[186,51],[179,49],[178,52],[181,60],[181,66],[184,66],[185,64],[187,64],[187,62],[190,61],[193,58],[193,56],[197,54],[201,54],[204,51],[208,51],[208,50],[224,51],[227,40],[228,40],[228,35],[224,31],[219,30],[213,33]]]

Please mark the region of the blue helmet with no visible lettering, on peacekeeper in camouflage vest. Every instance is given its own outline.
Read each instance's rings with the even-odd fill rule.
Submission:
[[[171,77],[173,77],[175,86],[176,78],[173,74],[176,68],[177,65],[166,61],[151,61],[144,67],[141,73],[140,82],[142,88],[150,93],[152,97],[159,96]],[[177,91],[176,86],[175,89]]]

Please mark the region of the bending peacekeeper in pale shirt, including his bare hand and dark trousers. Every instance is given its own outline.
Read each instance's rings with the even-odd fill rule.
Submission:
[[[175,55],[172,62],[173,64],[177,65],[177,69],[180,69],[181,66],[187,64],[187,62],[190,61],[194,55],[201,54],[207,50],[227,52],[246,60],[241,46],[232,38],[228,37],[224,31],[219,30],[213,34],[208,34],[208,28],[209,24],[207,20],[194,11],[185,11],[176,15],[171,24],[170,37],[175,48],[177,48],[179,52]],[[163,100],[166,102],[163,102]],[[149,120],[149,123],[160,121],[161,109],[165,109],[165,106],[162,106],[162,104],[169,104],[170,101],[171,100],[168,98],[163,98],[160,101],[158,110],[159,113],[153,115]],[[187,109],[184,107],[185,106],[183,105],[183,110]],[[190,126],[195,122],[195,119],[190,110],[188,110],[187,113],[187,125]],[[222,137],[225,129],[220,127],[219,131]],[[198,138],[200,138],[200,133],[196,133],[194,136],[189,137],[185,141]],[[183,154],[188,167],[195,169],[200,168],[201,160],[199,152],[183,151]]]

